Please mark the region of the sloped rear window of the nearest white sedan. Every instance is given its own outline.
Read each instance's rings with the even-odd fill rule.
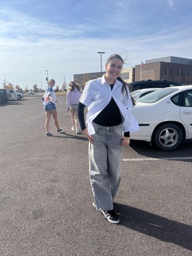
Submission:
[[[142,98],[138,99],[137,102],[144,102],[144,103],[154,103],[157,102],[160,99],[163,99],[165,96],[174,93],[175,91],[177,91],[179,89],[177,88],[171,88],[171,87],[166,87],[163,88],[161,90],[156,90],[152,93],[149,93],[145,96],[143,96]]]

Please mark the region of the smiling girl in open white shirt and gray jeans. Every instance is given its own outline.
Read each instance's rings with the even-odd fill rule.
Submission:
[[[129,145],[129,131],[139,130],[136,119],[128,111],[133,102],[127,84],[119,77],[122,66],[121,56],[111,55],[105,64],[105,75],[86,83],[78,105],[81,130],[89,139],[93,206],[112,223],[119,223],[113,200],[121,179],[122,145]],[[84,123],[85,106],[88,109],[87,128]]]

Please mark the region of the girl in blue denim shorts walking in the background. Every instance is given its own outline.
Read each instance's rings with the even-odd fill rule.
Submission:
[[[58,118],[57,118],[57,110],[55,106],[56,97],[55,92],[52,89],[55,85],[55,80],[51,79],[48,81],[49,87],[47,88],[45,94],[44,94],[44,109],[45,109],[45,115],[46,115],[46,122],[45,122],[45,129],[46,129],[46,136],[52,136],[52,133],[49,132],[49,122],[51,119],[51,115],[55,121],[55,126],[57,127],[57,132],[63,131],[63,128],[59,128]]]

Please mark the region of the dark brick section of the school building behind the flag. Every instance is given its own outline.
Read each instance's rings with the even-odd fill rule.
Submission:
[[[147,60],[144,67],[136,65],[135,81],[148,79],[192,84],[192,59],[169,56]]]

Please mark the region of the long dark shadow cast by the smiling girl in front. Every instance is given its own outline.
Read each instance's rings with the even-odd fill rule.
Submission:
[[[192,250],[192,226],[124,204],[113,204],[120,217],[119,224],[161,241]]]

